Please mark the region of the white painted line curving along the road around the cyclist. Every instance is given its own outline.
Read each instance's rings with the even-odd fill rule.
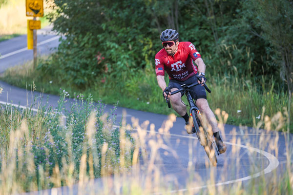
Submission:
[[[12,103],[8,103],[8,102],[4,102],[4,101],[0,101],[0,104],[12,105],[12,106],[20,107],[20,108],[23,108],[23,109],[29,108],[27,106],[20,106],[20,105],[17,105],[17,104],[12,104]],[[37,109],[34,109],[34,108],[32,108],[32,110],[35,111],[35,112],[38,111]],[[65,117],[65,116],[63,116],[63,117]],[[113,125],[113,127],[119,128],[120,126]],[[133,129],[133,130],[136,130],[136,129]],[[146,131],[148,133],[151,133],[151,131],[148,131],[148,130],[144,130],[144,131]],[[156,131],[154,133],[164,135],[164,133],[160,133],[160,132],[156,132]],[[193,136],[181,136],[181,135],[176,135],[176,134],[169,134],[169,135],[170,136],[175,136],[175,137],[184,137],[184,138],[190,138],[190,139],[197,139],[197,137],[193,137]],[[185,192],[185,191],[188,191],[188,190],[197,190],[197,189],[207,188],[208,186],[221,186],[221,185],[227,185],[227,184],[231,184],[231,183],[241,182],[241,181],[245,181],[245,180],[248,180],[248,179],[251,179],[251,178],[261,176],[262,174],[268,174],[268,173],[272,172],[272,170],[276,169],[279,166],[279,160],[275,156],[273,156],[272,154],[270,154],[270,153],[268,153],[266,151],[259,150],[257,148],[253,148],[251,146],[245,146],[245,145],[242,145],[242,144],[236,144],[236,143],[231,143],[231,142],[227,142],[227,141],[224,141],[224,143],[229,144],[229,145],[242,147],[242,148],[257,152],[257,153],[259,153],[261,155],[264,155],[264,156],[266,156],[266,158],[268,158],[269,165],[264,170],[262,170],[262,171],[260,171],[260,172],[258,172],[256,174],[253,174],[251,176],[246,176],[246,177],[242,177],[242,178],[239,178],[239,179],[220,182],[220,183],[216,183],[216,184],[213,184],[213,185],[203,185],[203,186],[198,186],[198,187],[191,188],[191,189],[184,188],[184,189],[180,189],[180,190],[174,190],[174,191],[170,191],[169,193]],[[162,194],[162,193],[156,193],[155,195],[157,195],[157,194]]]

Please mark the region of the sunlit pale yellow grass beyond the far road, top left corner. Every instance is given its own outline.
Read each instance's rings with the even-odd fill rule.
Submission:
[[[46,1],[44,9],[46,13]],[[32,20],[25,15],[25,0],[8,0],[0,7],[0,18],[0,41],[26,34],[27,20]],[[42,28],[49,24],[45,16],[37,17],[37,20],[41,20]]]

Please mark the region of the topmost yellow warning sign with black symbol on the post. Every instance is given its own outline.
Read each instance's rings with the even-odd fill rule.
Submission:
[[[43,11],[43,0],[25,0],[26,4],[26,16],[42,17]]]

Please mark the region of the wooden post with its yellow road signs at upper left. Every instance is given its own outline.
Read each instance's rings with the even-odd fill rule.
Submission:
[[[34,68],[37,67],[37,29],[41,29],[41,21],[37,17],[44,15],[43,0],[25,0],[26,16],[34,17],[27,20],[27,49],[34,51]]]

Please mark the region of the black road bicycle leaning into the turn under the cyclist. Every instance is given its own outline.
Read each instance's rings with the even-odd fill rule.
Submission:
[[[199,76],[197,76],[197,78],[199,78]],[[189,103],[189,106],[190,106],[189,114],[192,117],[193,133],[196,133],[196,136],[197,136],[200,144],[204,147],[211,164],[213,166],[217,166],[218,161],[217,161],[216,154],[219,156],[220,153],[218,151],[215,139],[213,136],[209,135],[209,132],[207,131],[207,127],[205,127],[205,125],[202,121],[200,111],[195,105],[196,100],[194,101],[190,95],[190,91],[191,91],[190,88],[193,86],[199,85],[199,84],[200,83],[198,83],[198,82],[193,83],[191,85],[183,84],[183,85],[181,85],[181,87],[182,87],[181,89],[178,89],[176,91],[171,92],[171,95],[174,95],[174,94],[177,94],[177,93],[183,91],[183,94],[186,96],[188,103]],[[209,90],[206,83],[204,83],[204,87],[209,93],[211,93],[211,91]],[[170,91],[168,91],[168,89],[166,89],[166,92],[167,92],[167,94],[169,94]],[[181,96],[181,98],[182,97],[183,97],[183,95]],[[166,98],[166,102],[168,104],[168,107],[171,108],[169,98]]]

